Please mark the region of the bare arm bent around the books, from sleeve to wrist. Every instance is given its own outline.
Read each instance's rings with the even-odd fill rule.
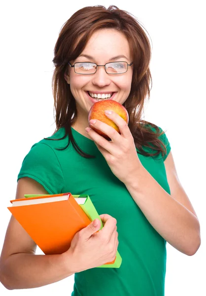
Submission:
[[[48,194],[42,185],[30,178],[21,178],[16,198],[28,194]],[[60,281],[72,270],[70,253],[35,255],[36,245],[12,216],[8,224],[0,256],[0,282],[9,290],[36,288]]]

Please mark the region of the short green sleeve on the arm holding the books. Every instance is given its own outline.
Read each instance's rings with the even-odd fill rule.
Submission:
[[[63,193],[65,181],[55,151],[44,143],[36,143],[25,156],[17,182],[29,177],[40,183],[49,194]]]

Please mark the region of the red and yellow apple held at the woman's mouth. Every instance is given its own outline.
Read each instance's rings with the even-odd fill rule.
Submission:
[[[94,105],[91,107],[91,109],[89,111],[88,121],[90,121],[90,119],[98,119],[98,120],[108,124],[109,126],[113,127],[120,134],[118,126],[105,115],[105,113],[104,113],[105,110],[111,110],[111,111],[116,112],[128,124],[129,115],[128,115],[126,108],[123,105],[121,105],[120,103],[113,101],[113,100],[109,100],[109,99],[108,100],[104,99],[102,101],[98,101],[98,102],[94,103]],[[95,130],[99,135],[101,135],[103,138],[105,138],[108,141],[111,141],[111,139],[106,134],[104,134],[101,130],[90,125],[90,122],[89,122],[89,126],[93,130]]]

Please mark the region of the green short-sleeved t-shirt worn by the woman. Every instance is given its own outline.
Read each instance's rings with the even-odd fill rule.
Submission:
[[[61,128],[50,139],[64,135],[65,129]],[[145,218],[124,183],[112,173],[95,143],[73,128],[72,135],[83,151],[96,158],[80,156],[71,143],[65,150],[55,150],[66,147],[68,137],[60,141],[43,139],[24,158],[17,179],[30,177],[49,194],[86,193],[99,215],[109,214],[117,220],[120,268],[90,268],[75,273],[71,296],[164,296],[166,240]],[[168,155],[170,143],[166,134],[161,137]],[[161,153],[155,157],[138,154],[138,157],[170,194]]]

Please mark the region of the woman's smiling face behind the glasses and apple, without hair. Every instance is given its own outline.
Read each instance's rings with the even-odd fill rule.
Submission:
[[[129,42],[122,33],[114,29],[102,29],[92,35],[83,52],[75,60],[70,61],[70,64],[91,62],[104,65],[118,61],[128,64],[133,62]],[[75,129],[84,131],[88,127],[88,113],[96,102],[95,98],[90,97],[89,92],[108,96],[114,93],[110,99],[123,104],[130,94],[132,74],[133,66],[129,66],[128,71],[123,74],[107,74],[104,67],[98,67],[97,72],[90,75],[76,74],[74,68],[68,67],[65,79],[70,84],[77,108],[77,120],[74,125],[78,128]]]

